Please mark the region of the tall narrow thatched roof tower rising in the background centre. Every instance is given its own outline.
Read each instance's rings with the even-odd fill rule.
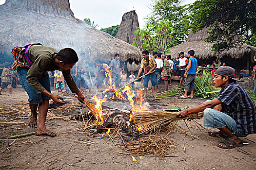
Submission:
[[[120,24],[116,37],[129,44],[133,44],[134,32],[137,30],[137,27],[138,16],[135,10],[125,13],[122,17],[122,22]]]

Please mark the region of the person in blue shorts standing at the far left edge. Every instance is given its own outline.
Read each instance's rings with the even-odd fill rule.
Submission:
[[[1,78],[0,94],[2,89],[5,87],[9,88],[9,94],[12,94],[10,63],[4,63]]]

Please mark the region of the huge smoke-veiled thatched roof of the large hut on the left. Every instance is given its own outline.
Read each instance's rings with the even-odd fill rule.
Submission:
[[[88,62],[108,63],[119,53],[129,70],[137,70],[142,58],[136,47],[75,18],[68,0],[6,0],[0,16],[0,62],[12,60],[14,46],[38,42],[73,48]]]

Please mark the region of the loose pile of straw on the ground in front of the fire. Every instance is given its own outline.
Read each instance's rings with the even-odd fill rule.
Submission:
[[[129,154],[153,155],[163,157],[168,151],[176,152],[174,142],[160,135],[145,136],[138,141],[122,143],[122,148]]]

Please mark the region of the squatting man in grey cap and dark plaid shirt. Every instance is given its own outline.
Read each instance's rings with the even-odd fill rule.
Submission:
[[[209,135],[223,139],[217,144],[218,147],[230,149],[243,146],[238,137],[256,133],[256,105],[236,81],[234,68],[218,68],[213,82],[216,87],[221,87],[220,94],[212,101],[182,110],[177,117],[204,111],[204,127],[219,129]]]

